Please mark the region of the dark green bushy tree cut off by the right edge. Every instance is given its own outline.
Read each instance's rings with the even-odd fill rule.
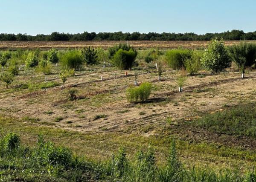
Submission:
[[[244,73],[244,67],[256,64],[256,44],[240,43],[230,47],[230,57]]]

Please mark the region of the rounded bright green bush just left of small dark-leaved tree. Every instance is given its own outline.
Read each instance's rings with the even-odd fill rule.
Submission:
[[[72,50],[62,55],[61,66],[63,69],[79,70],[83,65],[83,57],[78,50]]]

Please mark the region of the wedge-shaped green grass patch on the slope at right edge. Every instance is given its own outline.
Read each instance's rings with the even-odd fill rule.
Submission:
[[[256,104],[233,106],[192,121],[193,126],[216,133],[243,135],[256,138]]]

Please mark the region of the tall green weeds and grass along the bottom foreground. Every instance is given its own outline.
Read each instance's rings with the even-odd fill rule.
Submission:
[[[120,148],[111,159],[95,162],[74,154],[65,146],[56,146],[38,135],[34,147],[20,143],[20,136],[9,133],[0,139],[0,169],[3,181],[54,182],[253,182],[255,171],[215,171],[207,167],[186,167],[180,161],[172,141],[169,155],[157,165],[154,148],[139,150],[128,159]]]

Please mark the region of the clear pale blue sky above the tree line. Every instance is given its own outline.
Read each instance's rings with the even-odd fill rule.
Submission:
[[[0,0],[0,33],[256,31],[256,0]]]

